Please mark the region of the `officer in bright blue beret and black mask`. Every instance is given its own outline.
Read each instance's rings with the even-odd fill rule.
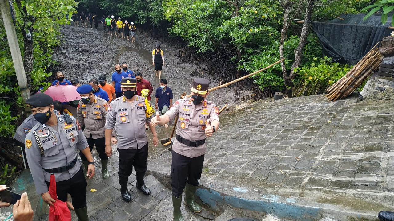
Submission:
[[[106,100],[93,94],[93,87],[91,85],[82,85],[76,91],[81,96],[81,101],[78,103],[76,119],[81,127],[84,128],[84,134],[87,144],[89,144],[90,152],[93,149],[93,145],[96,145],[97,153],[99,153],[101,159],[102,177],[106,179],[109,177],[109,174],[107,169],[108,156],[105,153],[104,125],[109,105]],[[79,155],[87,171],[89,162],[82,152]]]

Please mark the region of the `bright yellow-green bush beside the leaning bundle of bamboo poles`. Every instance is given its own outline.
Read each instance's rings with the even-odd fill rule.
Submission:
[[[296,68],[298,77],[294,82],[294,96],[309,96],[323,94],[328,87],[338,81],[351,69],[348,65],[330,63],[331,58],[314,58],[309,66]]]

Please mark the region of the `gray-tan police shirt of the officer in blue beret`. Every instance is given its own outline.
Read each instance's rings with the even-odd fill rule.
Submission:
[[[105,137],[105,120],[107,117],[109,105],[106,100],[95,96],[93,102],[84,104],[82,101],[78,103],[76,119],[84,127],[84,134],[87,138],[92,135],[93,139]]]

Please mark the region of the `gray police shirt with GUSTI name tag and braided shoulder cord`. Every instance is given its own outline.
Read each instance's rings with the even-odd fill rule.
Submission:
[[[34,180],[37,193],[42,194],[48,191],[45,181],[50,180],[50,173],[43,170],[67,166],[76,157],[75,148],[80,151],[87,148],[88,144],[78,121],[70,116],[72,124],[66,124],[62,115],[57,115],[58,131],[52,127],[37,123],[27,134],[25,139],[26,157],[29,163],[30,172]],[[33,135],[35,131],[39,136],[44,155],[41,155],[39,145]],[[56,182],[71,179],[79,170],[81,165],[77,162],[68,171],[55,173]]]

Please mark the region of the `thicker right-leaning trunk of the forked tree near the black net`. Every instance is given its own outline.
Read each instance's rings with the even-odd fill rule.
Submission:
[[[310,18],[312,17],[312,12],[313,12],[313,6],[315,4],[316,0],[308,0],[307,1],[307,9],[305,12],[305,22],[302,26],[302,30],[301,30],[301,36],[299,37],[299,43],[297,46],[297,49],[295,51],[296,53],[296,58],[294,59],[294,62],[292,64],[292,69],[290,70],[290,74],[289,74],[289,81],[288,83],[290,83],[289,87],[287,88],[287,94],[289,98],[293,97],[293,83],[292,83],[292,79],[294,79],[294,77],[296,77],[296,73],[294,73],[294,68],[299,67],[299,65],[301,64],[301,59],[302,59],[302,50],[305,46],[305,44],[307,43],[307,37],[308,37],[308,31],[309,31],[309,26],[310,26]]]

